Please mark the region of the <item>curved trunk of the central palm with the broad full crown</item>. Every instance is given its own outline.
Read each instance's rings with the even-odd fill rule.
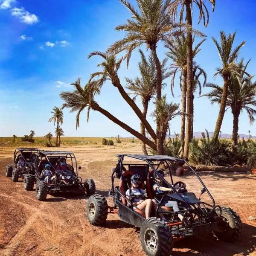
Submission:
[[[157,70],[157,87],[156,87],[156,103],[160,102],[162,99],[162,69],[161,69],[161,64],[159,61],[159,58],[157,57],[157,50],[156,50],[156,45],[151,45],[150,46],[155,64],[156,64],[156,70]],[[160,120],[156,120],[157,123],[157,154],[161,155],[163,154],[163,140],[162,140],[162,134],[160,131]]]

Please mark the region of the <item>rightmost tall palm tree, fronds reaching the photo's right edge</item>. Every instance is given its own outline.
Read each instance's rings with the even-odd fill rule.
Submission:
[[[232,74],[230,83],[228,84],[226,111],[230,108],[233,114],[233,145],[237,145],[238,143],[240,113],[245,110],[249,116],[250,124],[255,121],[256,82],[252,82],[251,77],[243,76],[247,64],[244,66],[243,60],[241,60],[239,66],[244,67],[244,71],[241,72],[241,77],[239,78]],[[207,96],[212,104],[217,103],[221,105],[224,88],[212,83],[206,84],[206,87],[212,88],[213,90],[203,96]]]

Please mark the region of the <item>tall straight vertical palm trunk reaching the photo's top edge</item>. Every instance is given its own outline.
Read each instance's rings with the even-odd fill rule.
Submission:
[[[187,46],[187,104],[186,104],[186,111],[187,111],[187,124],[186,124],[186,137],[185,137],[185,145],[184,145],[184,153],[183,157],[188,157],[189,155],[189,142],[190,140],[190,131],[191,131],[191,123],[192,123],[192,109],[191,109],[191,102],[192,102],[192,95],[193,95],[193,87],[192,87],[192,81],[193,81],[193,52],[192,52],[192,16],[191,16],[191,9],[190,9],[190,3],[189,1],[186,2],[186,21],[188,25],[191,27],[187,28],[187,40],[186,40],[186,46]]]

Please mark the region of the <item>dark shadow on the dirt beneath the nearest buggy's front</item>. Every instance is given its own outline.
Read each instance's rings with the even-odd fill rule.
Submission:
[[[215,237],[187,237],[174,244],[173,256],[219,256],[219,255],[249,255],[256,251],[256,227],[243,223],[243,230],[239,239],[234,243],[217,241]],[[186,249],[185,249],[186,248]]]

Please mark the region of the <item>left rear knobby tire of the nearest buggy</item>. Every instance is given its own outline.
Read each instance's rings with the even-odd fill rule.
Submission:
[[[100,226],[108,217],[108,203],[100,194],[91,195],[87,202],[87,218],[90,224]]]

